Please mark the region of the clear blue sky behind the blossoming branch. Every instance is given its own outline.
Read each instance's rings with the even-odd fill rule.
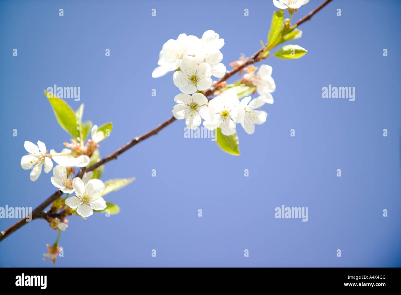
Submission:
[[[294,20],[321,2],[311,0]],[[103,181],[136,177],[105,197],[120,214],[69,218],[55,266],[400,266],[400,9],[399,1],[334,0],[302,24],[292,44],[308,49],[304,57],[265,60],[277,85],[274,104],[263,106],[269,116],[255,134],[238,128],[241,156],[184,138],[185,124],[176,121],[108,163]],[[271,0],[0,2],[0,207],[35,208],[55,191],[52,173],[32,182],[20,167],[25,140],[57,151],[69,141],[44,89],[81,87],[81,101],[67,102],[85,104],[84,120],[113,122],[100,146],[108,155],[172,115],[180,92],[171,73],[151,77],[164,42],[212,29],[225,39],[230,68],[267,39],[274,10]],[[355,87],[355,101],[322,98],[329,84]],[[308,207],[309,221],[275,219],[283,204]],[[0,230],[14,222],[0,220]],[[35,220],[0,243],[0,266],[53,267],[42,257],[56,236]]]

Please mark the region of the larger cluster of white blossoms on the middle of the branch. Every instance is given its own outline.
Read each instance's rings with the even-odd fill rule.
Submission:
[[[241,124],[247,133],[252,134],[255,124],[262,124],[267,117],[266,112],[256,109],[265,103],[273,103],[270,94],[275,90],[275,83],[271,77],[272,68],[262,65],[257,75],[254,75],[253,72],[257,68],[253,67],[253,71],[244,75],[245,85],[256,86],[260,95],[258,98],[251,100],[248,96],[240,102],[237,92],[226,90],[208,102],[199,92],[211,87],[212,75],[225,75],[226,67],[221,63],[223,54],[220,52],[223,45],[224,39],[212,30],[203,33],[201,39],[181,34],[177,40],[170,39],[164,43],[159,55],[159,66],[154,69],[152,77],[175,71],[174,85],[182,94],[175,96],[174,101],[177,104],[172,112],[176,119],[185,119],[188,128],[197,128],[203,119],[203,126],[209,130],[221,128],[224,135],[235,134],[237,123]]]

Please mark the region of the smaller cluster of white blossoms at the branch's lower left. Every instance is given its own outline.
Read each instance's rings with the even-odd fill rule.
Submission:
[[[100,134],[101,133],[101,134]],[[91,130],[92,142],[99,142],[104,138],[101,131],[97,131],[97,126],[93,126]],[[97,141],[96,141],[97,140]],[[90,158],[87,155],[74,157],[70,149],[63,149],[61,153],[51,150],[47,154],[46,146],[38,140],[38,145],[25,141],[24,147],[29,153],[21,158],[22,169],[32,169],[30,172],[30,180],[38,179],[42,172],[42,166],[45,166],[45,173],[49,173],[53,168],[53,159],[58,165],[53,169],[53,177],[50,178],[51,183],[59,188],[63,193],[73,193],[75,196],[65,200],[65,204],[73,209],[77,209],[77,213],[83,217],[93,214],[93,210],[103,210],[106,208],[106,202],[102,197],[97,195],[103,191],[104,183],[99,179],[92,179],[93,172],[85,172],[82,179],[73,178],[73,167],[87,167]],[[68,172],[67,172],[68,171]],[[58,228],[65,230],[66,225],[63,222],[58,224]]]

